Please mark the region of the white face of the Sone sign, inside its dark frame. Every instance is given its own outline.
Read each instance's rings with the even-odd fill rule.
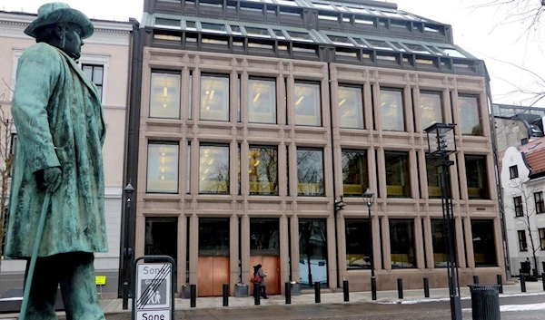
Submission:
[[[138,265],[136,274],[136,310],[154,309],[147,313],[137,312],[137,319],[170,319],[171,295],[170,263],[150,263]],[[156,316],[155,316],[156,315]]]

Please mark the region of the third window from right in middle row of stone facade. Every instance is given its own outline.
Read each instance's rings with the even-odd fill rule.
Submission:
[[[384,152],[388,198],[411,198],[411,172],[408,152]]]

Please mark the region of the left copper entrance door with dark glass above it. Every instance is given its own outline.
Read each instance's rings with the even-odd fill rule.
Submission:
[[[199,218],[199,296],[222,296],[229,283],[229,219]]]

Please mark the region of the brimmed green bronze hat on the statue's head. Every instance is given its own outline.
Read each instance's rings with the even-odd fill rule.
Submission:
[[[70,5],[62,2],[52,2],[40,6],[38,17],[25,29],[25,34],[36,37],[36,31],[51,24],[72,23],[82,28],[82,39],[88,38],[94,33],[91,20],[82,12],[72,9]]]

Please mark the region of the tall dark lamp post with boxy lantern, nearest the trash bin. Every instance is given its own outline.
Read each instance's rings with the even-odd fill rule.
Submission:
[[[454,212],[452,211],[451,177],[449,167],[454,161],[449,155],[456,152],[456,140],[452,123],[435,123],[424,129],[428,135],[430,156],[437,159],[436,167],[441,168],[441,205],[443,214],[443,239],[447,252],[447,275],[451,296],[451,319],[461,320],[460,283],[458,280],[458,256],[454,242]]]

